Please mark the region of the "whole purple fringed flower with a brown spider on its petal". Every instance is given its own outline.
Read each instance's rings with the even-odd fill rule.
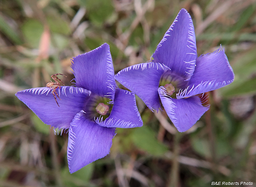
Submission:
[[[76,87],[61,86],[57,105],[49,87],[20,91],[16,96],[44,123],[69,129],[68,165],[73,173],[109,153],[116,127],[141,127],[135,95],[116,88],[109,45],[73,59]]]

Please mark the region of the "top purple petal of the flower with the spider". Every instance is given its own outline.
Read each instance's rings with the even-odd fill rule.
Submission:
[[[74,57],[71,67],[76,77],[76,87],[90,90],[102,97],[109,96],[112,101],[114,100],[115,73],[107,43]]]

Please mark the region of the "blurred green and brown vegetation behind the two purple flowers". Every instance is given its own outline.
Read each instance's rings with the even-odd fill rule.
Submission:
[[[118,129],[107,157],[70,174],[68,134],[14,94],[55,73],[71,86],[70,58],[104,42],[115,72],[147,62],[181,8],[198,55],[222,44],[234,82],[208,93],[210,110],[185,133],[137,98],[143,127]],[[0,0],[0,186],[256,186],[255,95],[255,0]]]

